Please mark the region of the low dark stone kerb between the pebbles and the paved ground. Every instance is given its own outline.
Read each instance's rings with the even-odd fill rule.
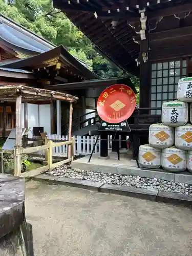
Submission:
[[[40,174],[35,177],[31,177],[32,180],[46,181],[52,184],[62,184],[72,187],[79,187],[89,189],[101,193],[117,194],[129,197],[136,197],[156,202],[170,203],[174,205],[182,204],[185,206],[192,206],[192,196],[176,194],[170,192],[162,192],[156,189],[148,190],[136,187],[117,186],[111,184],[105,184],[101,182],[92,182],[87,180],[77,180],[65,177],[55,177],[50,175]]]

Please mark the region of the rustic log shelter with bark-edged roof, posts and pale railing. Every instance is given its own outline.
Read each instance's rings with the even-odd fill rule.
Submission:
[[[69,113],[69,130],[68,130],[68,141],[53,143],[49,141],[47,145],[22,148],[22,102],[33,102],[33,101],[41,101],[41,100],[65,100],[70,103],[70,113]],[[72,130],[72,114],[73,114],[73,102],[78,100],[77,97],[72,96],[66,93],[60,93],[55,91],[49,91],[45,89],[36,89],[26,86],[4,86],[0,87],[0,102],[15,102],[16,111],[15,111],[15,126],[16,126],[16,143],[14,150],[14,175],[21,176],[21,162],[20,156],[25,153],[32,153],[40,150],[48,151],[48,165],[42,166],[39,168],[38,172],[42,172],[46,169],[51,169],[53,167],[57,167],[60,164],[67,163],[72,161],[73,159],[73,140],[71,136]],[[52,163],[52,148],[54,146],[61,146],[63,144],[68,144],[68,159],[63,160],[59,163]],[[25,174],[22,176],[25,177]]]

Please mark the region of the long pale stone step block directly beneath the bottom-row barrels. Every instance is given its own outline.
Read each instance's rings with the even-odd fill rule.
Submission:
[[[146,178],[157,178],[168,181],[175,181],[175,174],[159,172],[156,170],[145,170],[137,167],[117,167],[117,174],[121,175],[133,175]]]

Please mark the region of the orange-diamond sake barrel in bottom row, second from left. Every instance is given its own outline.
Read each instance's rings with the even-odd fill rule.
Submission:
[[[164,148],[161,153],[161,165],[169,172],[183,172],[187,167],[187,152],[180,148]]]

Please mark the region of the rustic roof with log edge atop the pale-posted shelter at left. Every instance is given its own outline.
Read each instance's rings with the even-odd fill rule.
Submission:
[[[22,95],[23,102],[45,101],[45,100],[65,100],[75,102],[77,97],[66,93],[50,91],[46,89],[37,89],[27,86],[1,86],[0,102],[13,102],[18,95]]]

